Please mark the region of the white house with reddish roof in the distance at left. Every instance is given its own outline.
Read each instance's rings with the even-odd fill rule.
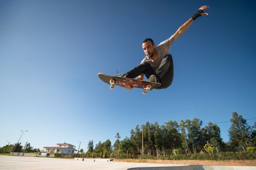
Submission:
[[[57,143],[57,146],[45,146],[47,153],[75,153],[77,151],[74,145],[69,143]]]

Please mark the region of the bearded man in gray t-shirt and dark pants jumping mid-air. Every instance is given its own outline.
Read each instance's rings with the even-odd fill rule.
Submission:
[[[169,54],[173,41],[185,33],[193,21],[197,17],[207,16],[204,10],[210,8],[207,5],[200,7],[197,12],[187,20],[179,29],[171,35],[170,38],[161,42],[157,47],[152,39],[145,39],[142,43],[142,49],[146,57],[142,60],[141,64],[129,70],[123,75],[127,78],[136,78],[143,80],[144,75],[148,78],[149,82],[161,83],[158,89],[167,88],[171,85],[173,79],[173,62],[172,56]],[[125,85],[125,88],[132,89],[131,85]]]

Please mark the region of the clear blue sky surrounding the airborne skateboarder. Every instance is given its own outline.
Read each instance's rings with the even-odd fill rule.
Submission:
[[[171,87],[142,94],[101,82],[138,65],[145,38],[177,39]],[[86,150],[137,124],[256,118],[255,0],[0,0],[0,146],[67,142]],[[253,125],[255,119],[248,120]],[[224,141],[230,123],[218,123]],[[112,143],[113,144],[113,143]]]

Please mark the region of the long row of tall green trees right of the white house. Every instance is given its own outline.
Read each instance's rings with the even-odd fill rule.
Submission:
[[[120,140],[119,133],[111,145],[107,139],[95,145],[90,140],[86,157],[117,157],[118,155],[154,156],[161,155],[192,155],[197,153],[219,152],[256,152],[256,122],[249,126],[246,119],[233,112],[229,128],[228,142],[224,142],[220,135],[220,128],[216,123],[209,122],[202,127],[200,119],[169,120],[163,125],[156,121],[137,125],[131,129],[130,136]],[[127,157],[126,156],[126,157]],[[132,156],[132,157],[133,157]]]

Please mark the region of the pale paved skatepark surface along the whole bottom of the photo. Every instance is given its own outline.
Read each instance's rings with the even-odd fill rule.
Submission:
[[[94,161],[95,160],[95,161]],[[0,155],[0,170],[256,170],[244,166],[188,166]]]

